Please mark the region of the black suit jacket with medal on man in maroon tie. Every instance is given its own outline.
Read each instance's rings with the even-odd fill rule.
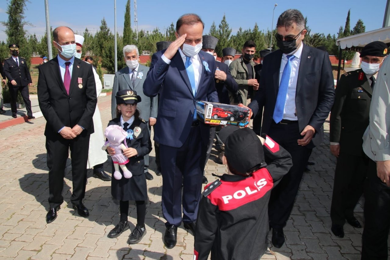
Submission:
[[[47,121],[45,135],[61,137],[58,131],[62,127],[75,125],[85,128],[81,135],[92,134],[92,116],[97,102],[92,65],[74,58],[69,95],[62,82],[57,57],[39,66],[38,70],[39,107]],[[78,78],[82,78],[81,88]]]

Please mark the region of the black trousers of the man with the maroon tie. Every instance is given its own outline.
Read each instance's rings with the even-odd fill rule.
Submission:
[[[58,207],[64,202],[62,188],[66,160],[71,150],[73,193],[71,202],[79,204],[85,194],[87,181],[87,160],[90,135],[78,135],[74,139],[58,136],[46,137],[47,165],[49,168],[49,204]]]

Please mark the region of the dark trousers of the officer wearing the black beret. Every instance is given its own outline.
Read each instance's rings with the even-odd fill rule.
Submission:
[[[332,224],[344,225],[353,217],[353,210],[363,194],[368,158],[340,152],[333,184],[330,218]]]

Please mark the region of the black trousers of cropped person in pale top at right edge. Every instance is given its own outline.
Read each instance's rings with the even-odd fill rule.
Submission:
[[[386,260],[390,229],[390,187],[376,175],[376,162],[369,159],[364,183],[364,230],[362,260]]]

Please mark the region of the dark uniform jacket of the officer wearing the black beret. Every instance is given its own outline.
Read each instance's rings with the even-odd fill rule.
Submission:
[[[330,114],[330,141],[340,143],[340,152],[363,156],[371,97],[371,85],[362,69],[341,76]]]

